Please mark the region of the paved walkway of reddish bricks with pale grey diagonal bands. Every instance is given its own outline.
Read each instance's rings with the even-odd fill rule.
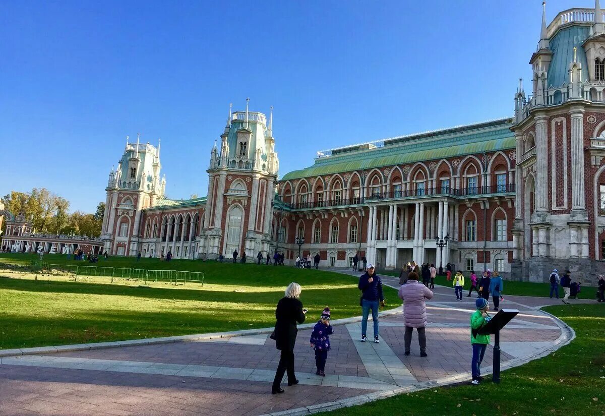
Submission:
[[[394,278],[384,282],[398,286]],[[399,304],[398,299],[387,300]],[[281,395],[270,394],[279,351],[268,333],[5,356],[0,358],[0,414],[306,414],[468,380],[468,322],[474,301],[473,296],[457,302],[452,289],[436,288],[433,301],[427,302],[427,358],[419,355],[415,333],[411,355],[404,355],[401,314],[381,318],[379,344],[359,342],[359,322],[336,322],[325,377],[315,375],[310,329],[301,329],[295,348],[300,384],[284,385],[286,393]],[[557,302],[520,296],[502,302],[502,308],[520,310],[501,333],[503,369],[569,342],[572,331],[538,310],[547,304]],[[489,346],[485,371],[491,360]]]

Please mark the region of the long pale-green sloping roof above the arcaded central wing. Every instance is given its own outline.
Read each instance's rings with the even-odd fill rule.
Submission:
[[[506,123],[503,123],[505,120]],[[385,140],[385,145],[379,148],[316,158],[313,166],[289,172],[281,180],[514,149],[515,137],[509,130],[511,125],[512,120],[501,119],[494,122],[493,126],[480,123],[481,128],[477,128],[477,125],[475,127],[469,125],[457,131],[446,129],[441,132],[436,131],[434,134],[418,134]]]

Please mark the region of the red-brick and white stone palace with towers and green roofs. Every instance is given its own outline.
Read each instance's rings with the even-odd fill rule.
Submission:
[[[160,145],[126,143],[110,172],[102,240],[112,255],[252,261],[319,253],[322,266],[356,254],[381,268],[451,263],[545,281],[553,268],[589,278],[605,255],[603,12],[562,11],[529,59],[514,115],[318,152],[279,177],[261,112],[229,111],[211,150],[208,197],[165,198]],[[437,244],[445,241],[447,244]]]

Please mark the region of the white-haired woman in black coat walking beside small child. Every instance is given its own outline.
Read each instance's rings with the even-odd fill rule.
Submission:
[[[294,343],[296,342],[296,323],[304,322],[306,309],[302,308],[302,302],[298,300],[301,295],[301,286],[298,283],[290,283],[286,288],[286,296],[280,299],[275,310],[275,346],[281,349],[280,364],[275,372],[271,393],[283,393],[281,379],[284,372],[288,373],[288,385],[298,384],[294,374]]]

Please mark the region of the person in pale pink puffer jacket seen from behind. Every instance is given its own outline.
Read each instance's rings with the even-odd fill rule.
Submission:
[[[427,304],[426,299],[433,299],[433,292],[418,281],[418,275],[411,272],[408,282],[399,288],[399,297],[404,301],[404,347],[405,355],[410,355],[410,344],[414,328],[418,333],[420,357],[427,357]]]

